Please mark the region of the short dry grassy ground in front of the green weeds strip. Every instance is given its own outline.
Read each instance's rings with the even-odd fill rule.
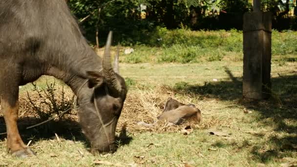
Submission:
[[[30,146],[37,157],[12,157],[6,152],[5,136],[0,136],[0,166],[96,166],[99,160],[118,166],[162,167],[297,164],[296,62],[273,62],[274,98],[255,102],[241,100],[242,63],[238,62],[124,63],[120,72],[129,92],[118,124],[121,134],[116,153],[91,155],[77,118],[73,117],[21,130],[25,142],[32,140]],[[44,81],[42,78],[38,84],[42,87]],[[52,82],[52,78],[48,81]],[[32,86],[21,88],[20,112],[29,110],[20,119],[22,126],[40,122],[31,116],[25,88],[30,90]],[[179,132],[183,125],[164,129],[136,125],[142,119],[155,119],[168,97],[196,104],[202,111],[202,122],[192,126],[190,135]],[[0,126],[1,133],[5,131],[1,115]],[[210,131],[230,136],[213,136]]]

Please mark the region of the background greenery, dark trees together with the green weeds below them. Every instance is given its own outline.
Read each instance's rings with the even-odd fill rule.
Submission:
[[[91,43],[99,21],[100,47],[110,30],[113,43],[133,46],[135,52],[121,60],[127,63],[241,61],[242,16],[252,11],[252,0],[68,0],[68,5],[84,20],[80,24]],[[287,8],[295,6],[289,0],[262,1],[262,10],[273,12],[278,30],[297,28]],[[296,54],[296,39],[295,32],[274,31],[273,55]]]

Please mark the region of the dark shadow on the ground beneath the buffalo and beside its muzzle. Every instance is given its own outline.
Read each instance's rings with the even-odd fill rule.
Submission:
[[[42,120],[33,117],[23,117],[18,120],[18,128],[23,142],[26,144],[32,140],[34,144],[40,140],[56,139],[55,133],[59,138],[72,141],[80,141],[85,144],[85,147],[90,148],[90,142],[82,133],[81,127],[77,121],[71,119],[63,119],[61,121],[49,121],[45,124],[26,129],[30,125],[35,125],[42,122]],[[5,132],[4,118],[0,116],[0,133]],[[0,135],[0,140],[4,140],[6,134]],[[122,126],[119,136],[116,136],[116,141],[121,141],[120,145],[128,145],[132,137],[127,135],[126,125]]]

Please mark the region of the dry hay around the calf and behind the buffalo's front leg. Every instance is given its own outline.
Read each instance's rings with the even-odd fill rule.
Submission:
[[[58,88],[58,92],[61,92],[61,88]],[[31,101],[36,105],[40,106],[45,112],[50,112],[48,107],[42,102],[39,94],[34,91],[29,91],[29,96]],[[69,88],[64,90],[64,99],[70,100],[73,97],[73,93]],[[194,123],[186,123],[184,125],[162,125],[162,126],[154,126],[154,127],[144,127],[141,125],[137,125],[137,122],[143,121],[146,123],[153,123],[157,116],[160,115],[164,108],[164,103],[167,101],[169,97],[172,97],[182,103],[188,104],[192,103],[200,108],[197,98],[192,98],[184,95],[178,95],[176,92],[172,91],[167,86],[160,86],[151,90],[131,90],[127,94],[127,98],[122,110],[121,117],[118,121],[117,131],[121,131],[123,127],[127,128],[129,133],[137,133],[137,132],[177,132],[180,131],[183,127],[191,125],[191,128],[204,129],[209,128],[213,124],[217,124],[217,120],[213,120],[212,118],[205,118],[203,115],[203,108],[200,108],[202,112],[202,121],[200,124]],[[57,95],[57,103],[59,104],[59,100],[62,98],[61,95]],[[34,111],[34,106],[29,102],[29,98],[26,93],[20,95],[20,109],[19,109],[19,118],[38,118],[38,115]],[[0,115],[1,116],[1,115]],[[77,111],[72,110],[71,114],[68,113],[64,116],[66,120],[78,121]],[[34,119],[36,120],[36,119]],[[0,124],[2,121],[0,120]],[[22,123],[23,126],[34,125],[42,122],[38,120],[36,122],[32,122],[28,119],[28,122]],[[5,131],[5,126],[2,126],[0,132]]]

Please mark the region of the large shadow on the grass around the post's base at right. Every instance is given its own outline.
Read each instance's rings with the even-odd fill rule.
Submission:
[[[297,151],[297,75],[291,74],[272,78],[272,94],[268,100],[244,102],[242,99],[242,79],[235,78],[225,67],[230,81],[205,82],[203,85],[191,85],[180,82],[173,86],[173,91],[180,94],[198,95],[199,99],[215,98],[220,101],[233,101],[247,109],[260,113],[255,121],[262,122],[269,119],[264,126],[275,126],[277,132],[286,133],[282,137],[270,137],[275,149],[261,152],[261,148],[254,147],[251,153],[261,162],[267,162],[273,157],[281,156],[279,152]],[[197,96],[196,96],[197,97]]]

